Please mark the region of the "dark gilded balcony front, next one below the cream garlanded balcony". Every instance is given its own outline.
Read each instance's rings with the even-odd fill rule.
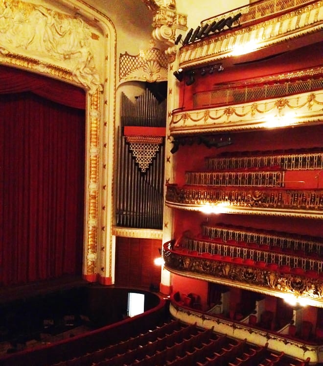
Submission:
[[[167,184],[166,205],[187,210],[222,209],[221,212],[249,209],[258,214],[308,215],[323,219],[323,190],[284,190],[282,188],[198,187]],[[225,211],[227,210],[227,211]],[[272,210],[272,211],[271,211]],[[220,212],[217,210],[217,212]]]

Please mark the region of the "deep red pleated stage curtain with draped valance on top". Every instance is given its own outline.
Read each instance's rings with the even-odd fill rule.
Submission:
[[[19,74],[19,79],[12,80],[15,86],[10,87],[8,82],[4,87],[0,82],[2,93],[5,88],[17,93],[17,89],[26,90],[28,83],[33,85],[28,81],[30,75],[22,80]],[[37,75],[32,77],[36,84]],[[39,83],[43,79],[39,77]],[[51,99],[62,98],[65,84],[54,82],[55,94],[59,95],[56,98],[50,88],[52,80],[48,81],[38,85],[37,94],[45,90]],[[57,88],[58,84],[62,88]],[[0,95],[2,286],[82,272],[84,92],[75,94],[83,94],[77,102],[83,109],[63,106],[33,93]]]

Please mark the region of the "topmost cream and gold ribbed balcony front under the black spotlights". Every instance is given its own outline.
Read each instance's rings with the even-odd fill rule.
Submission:
[[[233,56],[234,49],[250,44],[257,50],[320,32],[323,29],[319,18],[322,6],[322,1],[305,4],[288,14],[184,46],[180,49],[179,67],[185,69],[218,62]]]

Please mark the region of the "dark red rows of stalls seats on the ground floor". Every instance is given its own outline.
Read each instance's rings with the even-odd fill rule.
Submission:
[[[246,340],[218,335],[213,328],[201,329],[196,324],[173,320],[138,337],[55,366],[271,366],[271,362],[291,365],[286,360],[284,364],[278,363],[283,355],[269,351],[268,344],[253,346]]]

